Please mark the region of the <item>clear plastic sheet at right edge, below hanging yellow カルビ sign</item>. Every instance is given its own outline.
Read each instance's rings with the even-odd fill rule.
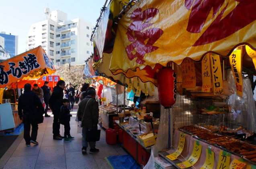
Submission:
[[[231,70],[227,72],[227,81],[229,82],[229,86],[236,90],[236,84]],[[229,113],[230,120],[227,127],[237,128],[242,126],[256,133],[256,109],[250,79],[243,79],[243,87],[243,98],[236,95],[235,91],[228,99],[228,104],[231,105],[233,113]]]

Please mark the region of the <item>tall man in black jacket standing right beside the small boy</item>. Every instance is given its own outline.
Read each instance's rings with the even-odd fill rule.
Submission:
[[[63,99],[63,89],[65,88],[65,82],[59,80],[57,85],[53,87],[53,93],[49,99],[49,107],[53,112],[53,139],[61,140],[64,137],[59,134],[60,123],[58,123],[60,107]]]

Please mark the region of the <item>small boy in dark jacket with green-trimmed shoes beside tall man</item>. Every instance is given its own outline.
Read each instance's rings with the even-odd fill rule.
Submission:
[[[64,142],[70,142],[70,139],[74,139],[70,135],[70,117],[72,117],[72,114],[70,114],[70,110],[68,108],[69,105],[69,100],[68,99],[63,99],[60,107],[60,114],[59,114],[59,123],[64,125]]]

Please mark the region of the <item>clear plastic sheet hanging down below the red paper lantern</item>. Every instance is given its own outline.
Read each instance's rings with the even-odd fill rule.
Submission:
[[[170,109],[170,115],[171,113],[172,109]],[[168,109],[164,109],[164,107],[161,106],[161,118],[159,122],[156,144],[152,147],[150,159],[143,169],[154,169],[154,158],[158,157],[158,151],[164,151],[168,149],[168,118]],[[170,123],[170,126],[172,126],[172,123]],[[171,135],[172,130],[170,130],[170,136]]]

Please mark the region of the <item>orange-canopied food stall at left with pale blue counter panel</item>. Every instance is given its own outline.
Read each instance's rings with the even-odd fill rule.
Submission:
[[[13,88],[17,88],[16,82],[18,81],[25,82],[29,79],[40,78],[55,72],[51,59],[48,58],[41,46],[29,50],[23,54],[19,54],[8,60],[4,60],[0,64],[0,73],[2,74],[0,77],[0,88],[4,88],[6,85],[12,85]],[[1,127],[1,129],[8,129],[7,131],[12,132],[18,125],[20,125],[22,121],[18,118],[17,102],[14,104],[5,103],[1,104],[0,106],[5,106],[6,104],[9,104],[10,109],[8,107],[4,109],[1,108],[1,123],[4,123],[4,121],[9,121],[13,127]],[[12,114],[12,116],[8,116],[8,114]]]

